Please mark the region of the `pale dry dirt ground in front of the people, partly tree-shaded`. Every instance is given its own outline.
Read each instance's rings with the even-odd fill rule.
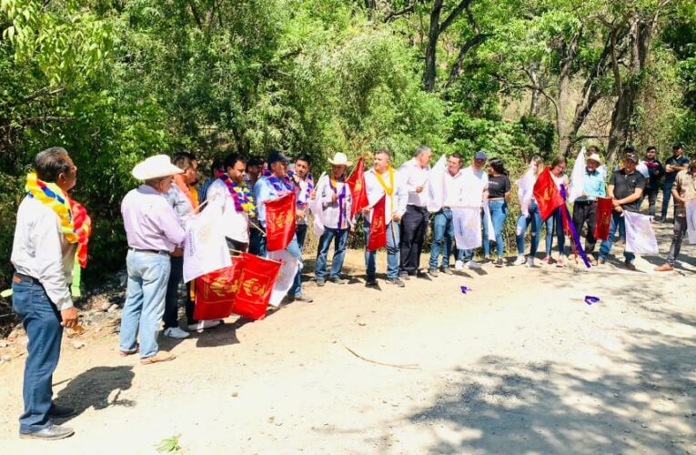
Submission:
[[[659,225],[662,252],[670,234]],[[162,340],[173,362],[121,358],[114,334],[65,339],[67,440],[17,438],[24,358],[0,365],[0,452],[156,453],[180,435],[193,454],[694,453],[696,247],[675,272],[652,271],[662,258],[375,290],[351,251],[354,282],[309,281],[314,303]]]

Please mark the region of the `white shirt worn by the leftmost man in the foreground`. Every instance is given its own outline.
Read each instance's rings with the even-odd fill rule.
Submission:
[[[76,243],[66,241],[60,217],[51,207],[33,197],[22,200],[10,260],[17,273],[39,280],[58,311],[73,306],[69,285],[76,249]]]

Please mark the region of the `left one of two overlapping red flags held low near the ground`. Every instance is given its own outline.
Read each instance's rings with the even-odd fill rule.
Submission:
[[[223,319],[232,313],[243,268],[244,258],[237,256],[232,258],[231,266],[196,278],[194,319]]]

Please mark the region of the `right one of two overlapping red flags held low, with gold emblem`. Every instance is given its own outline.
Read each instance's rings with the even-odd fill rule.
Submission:
[[[232,312],[250,319],[264,319],[280,262],[242,253],[244,268],[237,281]]]

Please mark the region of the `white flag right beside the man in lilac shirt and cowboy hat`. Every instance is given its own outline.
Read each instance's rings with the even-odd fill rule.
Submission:
[[[184,281],[232,265],[227,241],[215,210],[189,217],[184,238]]]

